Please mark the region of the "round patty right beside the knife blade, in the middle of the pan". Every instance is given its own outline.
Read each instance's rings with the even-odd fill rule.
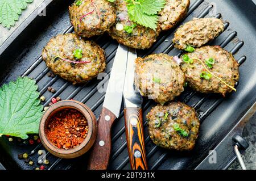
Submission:
[[[185,75],[168,54],[151,54],[137,58],[135,86],[142,96],[164,104],[184,91]]]

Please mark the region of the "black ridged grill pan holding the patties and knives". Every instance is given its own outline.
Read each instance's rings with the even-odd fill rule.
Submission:
[[[75,99],[89,106],[96,117],[102,109],[104,93],[97,91],[97,85],[103,84],[104,80],[93,79],[85,85],[72,85],[59,77],[49,78],[46,64],[40,54],[42,48],[52,36],[63,32],[72,32],[69,23],[68,5],[72,1],[53,1],[47,7],[47,16],[38,16],[31,24],[9,45],[0,55],[0,80],[1,85],[18,76],[28,76],[36,80],[40,95],[46,96],[44,106],[48,105],[51,98],[60,96],[62,99]],[[183,22],[177,24],[171,31],[162,32],[158,41],[147,50],[138,50],[138,56],[144,57],[151,53],[168,53],[171,56],[180,56],[180,50],[174,49],[171,40],[176,28],[194,17],[203,18],[215,16],[222,18],[225,22],[225,31],[221,33],[210,45],[220,45],[228,50],[240,63],[240,82],[237,83],[237,92],[232,92],[226,98],[214,94],[201,94],[189,88],[177,98],[196,109],[201,122],[199,139],[195,149],[191,152],[176,152],[165,150],[155,146],[147,134],[146,113],[150,111],[155,103],[144,99],[143,116],[145,129],[145,142],[148,166],[150,169],[226,169],[234,160],[231,137],[234,130],[242,134],[245,123],[241,118],[256,101],[256,64],[255,64],[255,4],[253,1],[232,0],[191,0],[188,14]],[[107,35],[93,38],[106,52],[108,66],[106,73],[110,74],[113,58],[118,43]],[[55,94],[47,91],[47,87],[56,89]],[[239,129],[238,129],[239,128]],[[227,136],[228,135],[228,136]],[[226,141],[225,141],[226,140]],[[42,144],[29,145],[28,141],[18,142],[14,139],[9,142],[3,136],[0,138],[0,162],[6,169],[35,169],[36,166],[28,166],[24,161],[18,159],[20,153],[31,153],[31,159],[36,163],[39,149],[44,149]],[[209,150],[230,150],[228,155],[217,153],[217,163],[214,167],[209,166],[204,159]],[[221,149],[220,149],[221,150]],[[227,151],[226,151],[227,152]],[[61,159],[47,153],[49,166],[46,169],[86,169],[86,158],[88,154],[78,159]],[[121,116],[115,121],[112,130],[112,156],[109,169],[130,169],[129,157],[126,149],[125,120],[123,109]]]

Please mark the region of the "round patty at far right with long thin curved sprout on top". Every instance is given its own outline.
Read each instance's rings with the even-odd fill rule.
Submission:
[[[217,77],[221,78],[228,85],[234,87],[239,79],[238,63],[233,55],[219,46],[205,46],[197,48],[195,52],[187,53],[189,58],[199,58],[205,64],[206,60],[212,58],[214,64],[212,68],[205,66]],[[218,78],[212,76],[210,79],[201,78],[200,74],[205,71],[204,66],[198,60],[193,60],[192,66],[186,62],[181,63],[181,69],[185,73],[189,85],[196,91],[203,93],[220,93],[225,95],[232,91]]]

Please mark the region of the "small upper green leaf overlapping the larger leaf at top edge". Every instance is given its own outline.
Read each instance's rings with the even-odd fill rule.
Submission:
[[[158,12],[161,11],[161,9],[163,9],[164,5],[166,4],[165,0],[141,0],[139,2],[142,11],[148,15],[158,14]]]

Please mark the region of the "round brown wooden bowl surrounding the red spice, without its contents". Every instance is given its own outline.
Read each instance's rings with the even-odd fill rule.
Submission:
[[[57,148],[57,146],[53,145],[51,141],[48,140],[46,136],[46,128],[48,127],[49,120],[51,120],[51,117],[55,115],[56,112],[67,108],[73,108],[77,111],[80,111],[82,115],[85,116],[85,119],[88,122],[88,133],[84,141],[82,141],[79,146],[73,149],[64,150]],[[62,100],[53,104],[46,110],[46,112],[44,112],[44,115],[40,121],[39,136],[44,148],[46,148],[51,154],[55,155],[56,157],[76,158],[86,153],[86,151],[88,151],[92,147],[94,141],[96,140],[96,117],[94,116],[90,108],[85,106],[85,104],[82,104],[81,102],[78,102],[76,100]]]

